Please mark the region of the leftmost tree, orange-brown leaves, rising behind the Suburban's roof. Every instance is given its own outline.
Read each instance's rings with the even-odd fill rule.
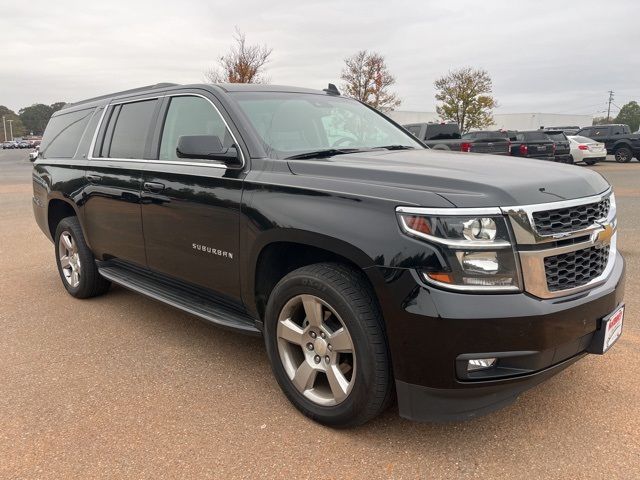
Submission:
[[[268,83],[264,66],[269,61],[272,48],[266,45],[247,45],[247,38],[236,27],[235,45],[218,60],[219,65],[205,72],[211,83]]]

